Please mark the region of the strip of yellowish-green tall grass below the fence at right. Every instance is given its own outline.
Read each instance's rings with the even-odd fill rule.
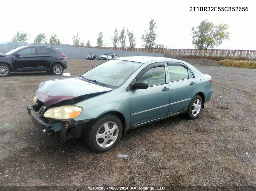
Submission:
[[[236,67],[236,68],[251,68],[256,69],[256,60],[218,60],[215,61],[217,64],[228,67]]]

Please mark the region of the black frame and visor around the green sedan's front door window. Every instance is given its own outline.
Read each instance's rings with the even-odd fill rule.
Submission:
[[[155,63],[152,63],[152,64],[149,64],[149,65],[145,66],[145,68],[143,68],[140,71],[140,73],[138,73],[138,75],[131,81],[129,86],[126,88],[126,91],[134,91],[134,90],[131,89],[131,84],[135,83],[149,69],[155,68],[155,67],[160,67],[160,66],[164,66],[165,67],[165,62],[155,62]],[[163,84],[168,84],[168,82],[166,82],[166,68],[165,68],[165,83],[163,83]],[[158,85],[163,85],[163,84],[156,84],[156,85],[148,86],[148,88],[154,87],[154,86],[158,86]]]

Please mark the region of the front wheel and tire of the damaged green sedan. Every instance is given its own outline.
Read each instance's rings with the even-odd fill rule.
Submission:
[[[113,128],[116,129],[111,130]],[[91,123],[89,131],[85,132],[85,142],[92,151],[105,152],[115,147],[121,138],[122,131],[122,122],[117,116],[111,114],[101,116]]]

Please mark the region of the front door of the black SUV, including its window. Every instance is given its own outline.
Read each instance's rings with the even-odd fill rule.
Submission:
[[[36,63],[36,48],[28,47],[24,48],[16,53],[20,56],[13,56],[13,69],[14,70],[29,70],[37,66]]]

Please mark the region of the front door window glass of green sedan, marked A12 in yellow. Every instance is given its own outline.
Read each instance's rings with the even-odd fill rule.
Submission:
[[[148,86],[165,83],[165,66],[150,68],[137,81],[148,82]]]

